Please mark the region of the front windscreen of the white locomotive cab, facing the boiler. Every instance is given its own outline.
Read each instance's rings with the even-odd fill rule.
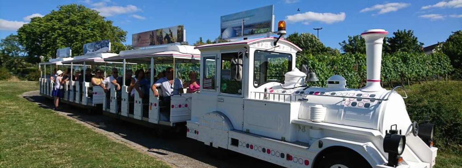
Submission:
[[[254,87],[267,82],[284,84],[284,74],[291,69],[291,54],[257,50],[254,54]]]

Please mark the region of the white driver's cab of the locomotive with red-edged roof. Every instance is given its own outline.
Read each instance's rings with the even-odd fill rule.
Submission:
[[[219,111],[234,129],[243,131],[244,104],[253,93],[284,83],[284,74],[295,68],[301,49],[275,37],[207,44],[201,51],[201,93],[193,96],[192,121]],[[294,47],[295,46],[295,47]]]

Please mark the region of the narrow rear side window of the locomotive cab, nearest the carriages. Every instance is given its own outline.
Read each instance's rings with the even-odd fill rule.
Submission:
[[[215,90],[215,79],[216,79],[216,58],[213,57],[204,57],[203,58],[203,79],[202,79],[202,89]]]

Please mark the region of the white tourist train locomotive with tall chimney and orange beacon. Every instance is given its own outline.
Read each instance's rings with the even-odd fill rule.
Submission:
[[[285,23],[278,30],[285,34]],[[438,150],[432,127],[419,132],[399,87],[380,85],[387,34],[361,34],[367,62],[361,89],[346,88],[340,75],[326,88],[306,86],[305,80],[316,79],[292,68],[301,49],[280,38],[197,47],[203,85],[193,95],[187,137],[287,168],[432,168]],[[290,72],[270,74],[276,65]]]

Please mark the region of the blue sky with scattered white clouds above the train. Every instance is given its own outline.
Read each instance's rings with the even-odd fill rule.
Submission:
[[[31,16],[40,17],[71,3],[95,9],[114,21],[128,32],[128,44],[134,33],[178,24],[184,24],[189,43],[199,37],[215,39],[220,34],[220,16],[267,5],[274,5],[276,22],[286,20],[287,33],[316,35],[313,28],[322,27],[319,38],[332,48],[340,48],[338,43],[347,36],[367,29],[385,29],[390,34],[414,30],[424,46],[462,30],[462,0],[0,0],[0,38],[15,34]]]

